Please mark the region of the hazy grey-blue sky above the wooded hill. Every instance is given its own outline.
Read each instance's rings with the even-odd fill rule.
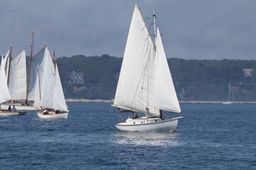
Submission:
[[[256,59],[254,0],[138,0],[144,17],[156,8],[168,58]],[[0,50],[122,57],[135,1],[0,0]],[[147,20],[147,19],[146,19]]]

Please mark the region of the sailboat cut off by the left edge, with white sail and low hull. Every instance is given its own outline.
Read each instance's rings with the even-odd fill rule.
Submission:
[[[5,73],[5,66],[6,66],[6,61],[7,61],[8,56],[9,56],[9,51],[6,54],[5,58],[2,54],[1,66],[0,66],[0,84],[1,84],[1,86],[0,86],[0,115],[1,116],[11,116],[11,115],[19,114],[19,112],[7,111],[7,109],[6,109],[6,111],[4,111],[1,108],[1,104],[3,104],[3,102],[12,100],[8,86],[7,86],[7,79],[6,79],[6,73]]]

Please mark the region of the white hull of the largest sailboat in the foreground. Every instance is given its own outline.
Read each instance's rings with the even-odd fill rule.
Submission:
[[[145,119],[128,119],[124,123],[116,124],[116,128],[122,131],[140,131],[140,132],[170,132],[177,129],[179,118],[172,118],[170,120],[160,120],[159,118],[145,120]]]

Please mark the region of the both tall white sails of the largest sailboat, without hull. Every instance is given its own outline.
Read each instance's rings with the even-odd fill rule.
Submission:
[[[156,43],[156,51],[159,52],[154,49],[154,43],[136,4],[114,106],[139,112],[146,112],[148,108],[148,113],[152,115],[159,115],[159,109],[180,112],[161,38]]]

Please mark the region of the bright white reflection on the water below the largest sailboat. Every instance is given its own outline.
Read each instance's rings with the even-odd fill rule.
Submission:
[[[177,146],[180,145],[176,132],[116,132],[113,143],[137,146]]]

